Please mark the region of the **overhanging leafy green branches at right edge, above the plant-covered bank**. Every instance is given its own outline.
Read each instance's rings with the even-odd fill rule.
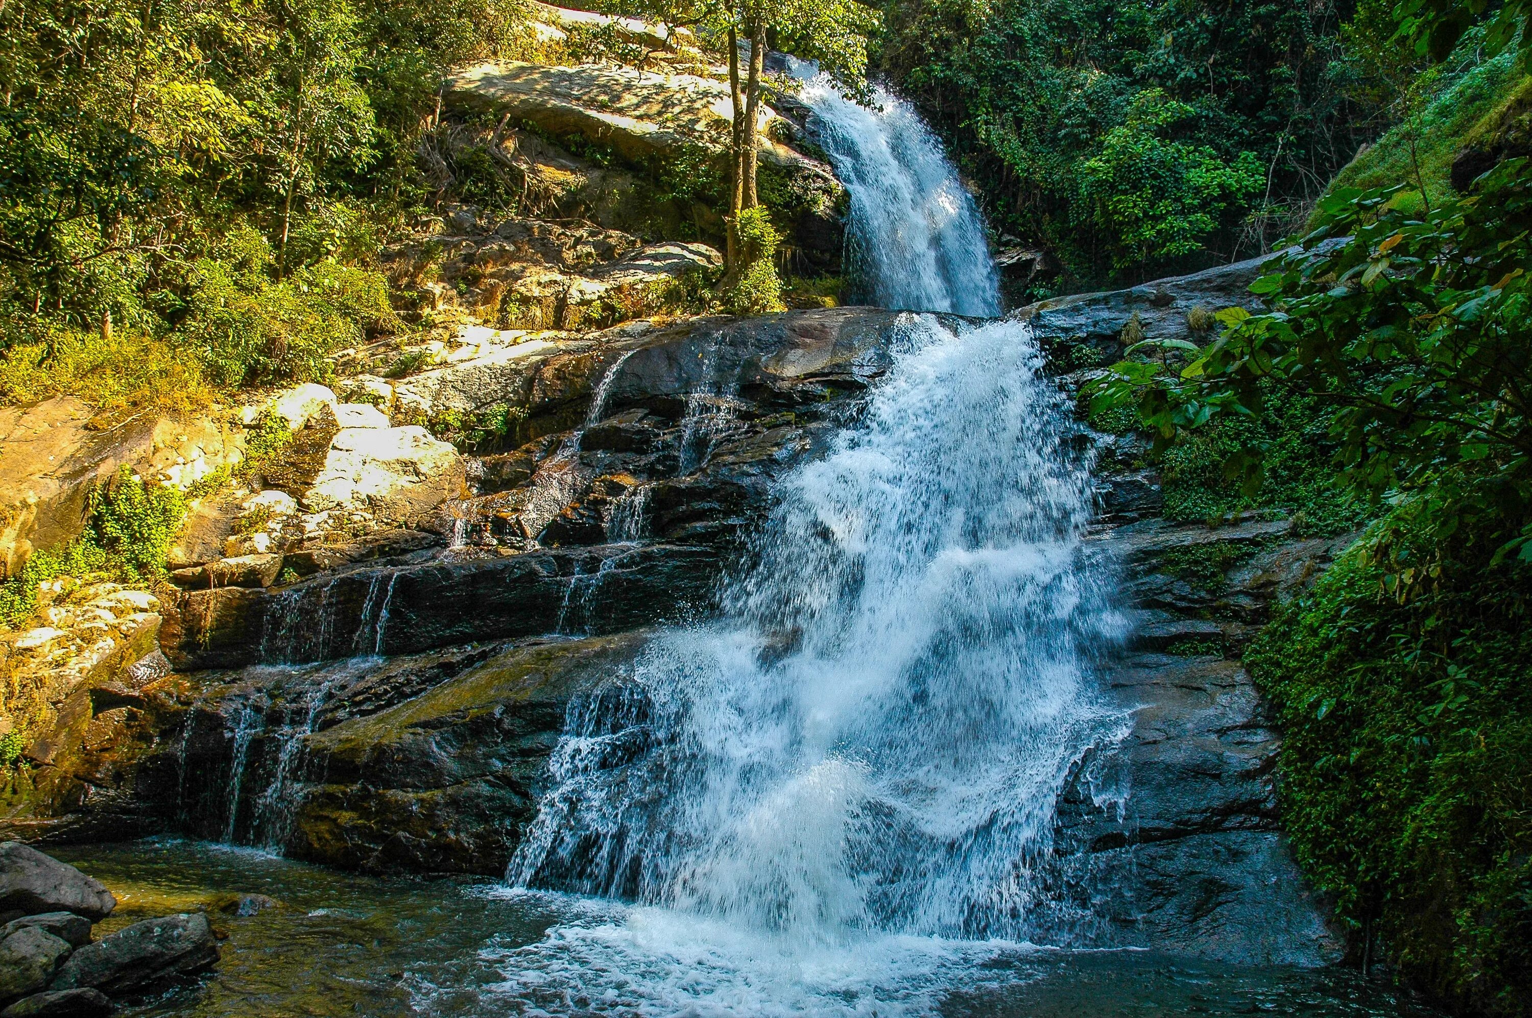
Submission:
[[[1184,367],[1117,364],[1094,404],[1137,403],[1166,449],[1215,418],[1250,419],[1272,392],[1311,400],[1357,498],[1422,493],[1442,539],[1488,527],[1532,557],[1532,530],[1504,530],[1532,504],[1527,162],[1423,216],[1391,205],[1400,190],[1327,197],[1327,225],[1252,288],[1272,311],[1219,312],[1229,328],[1206,347],[1175,341]],[[1230,438],[1226,462],[1252,493],[1267,450]]]

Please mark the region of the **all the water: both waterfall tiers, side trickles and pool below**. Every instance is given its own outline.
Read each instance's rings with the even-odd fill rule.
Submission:
[[[879,92],[864,109],[823,80],[804,98],[852,194],[867,294],[997,314],[982,224],[908,106]],[[1095,681],[1124,623],[1082,540],[1091,462],[1040,360],[1023,325],[910,314],[858,423],[781,484],[717,617],[570,706],[504,883],[90,850],[130,903],[279,902],[227,920],[236,951],[199,995],[130,1013],[1406,1013],[1344,972],[1034,946],[1069,941],[1043,889],[1059,788],[1128,730]],[[688,404],[697,462],[729,395]],[[642,502],[630,516],[614,539],[642,534]],[[602,579],[571,585],[561,629]],[[362,654],[391,585],[368,595]],[[283,730],[313,732],[328,690]],[[300,796],[300,764],[280,756],[262,794],[236,776],[227,840],[242,796]],[[279,843],[285,827],[250,830]]]

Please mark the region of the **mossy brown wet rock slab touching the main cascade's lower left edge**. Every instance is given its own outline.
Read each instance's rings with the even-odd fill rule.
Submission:
[[[536,811],[570,697],[624,667],[645,640],[529,641],[311,736],[306,752],[323,781],[299,805],[288,854],[363,870],[502,874]]]

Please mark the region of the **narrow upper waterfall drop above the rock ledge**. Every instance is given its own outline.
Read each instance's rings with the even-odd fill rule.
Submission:
[[[812,64],[791,64],[806,75]],[[902,311],[1000,314],[984,222],[941,142],[887,89],[873,107],[847,100],[826,75],[800,96],[810,130],[850,193],[847,246],[866,300]]]

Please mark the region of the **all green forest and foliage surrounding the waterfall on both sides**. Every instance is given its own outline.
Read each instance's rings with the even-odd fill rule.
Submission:
[[[1284,822],[1353,961],[1492,1015],[1532,1015],[1527,9],[890,0],[846,61],[925,113],[993,245],[1026,253],[1013,305],[1288,248],[1265,312],[1131,346],[1083,406],[1154,436],[1172,517],[1360,534],[1246,657]],[[792,46],[775,24],[752,32]],[[650,55],[550,47],[516,0],[0,0],[0,401],[67,393],[103,427],[420,328],[383,246],[527,196],[443,122],[452,67]],[[8,618],[60,571],[162,568],[181,494],[124,490],[11,577]]]

